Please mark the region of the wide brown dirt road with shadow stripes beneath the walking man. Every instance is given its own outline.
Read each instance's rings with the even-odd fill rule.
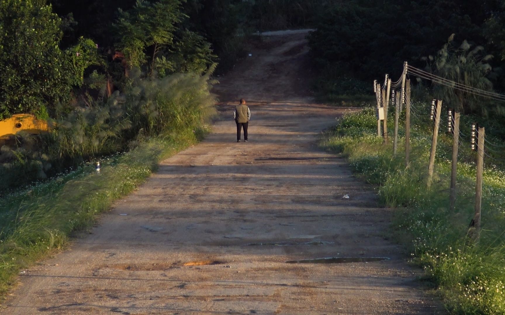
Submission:
[[[90,235],[23,273],[0,312],[434,313],[386,240],[390,211],[316,147],[343,109],[307,96],[304,35],[258,43],[216,87],[213,133],[165,160]],[[248,143],[235,142],[240,97],[252,113]],[[286,263],[326,257],[389,260]]]

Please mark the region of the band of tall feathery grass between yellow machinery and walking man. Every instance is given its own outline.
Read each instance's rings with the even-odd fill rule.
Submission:
[[[137,138],[197,132],[216,111],[209,89],[216,65],[204,75],[173,74],[145,78],[138,70],[108,99],[81,97],[70,112],[51,119],[41,138],[17,136],[0,150],[0,196],[12,187],[44,180],[83,162],[125,152]]]

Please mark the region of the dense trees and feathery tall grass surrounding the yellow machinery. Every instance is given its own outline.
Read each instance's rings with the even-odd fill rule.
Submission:
[[[84,11],[104,8],[88,4]],[[139,133],[197,131],[212,114],[208,82],[216,56],[203,36],[182,25],[187,16],[181,2],[138,1],[123,8],[114,7],[107,24],[91,26],[83,21],[95,16],[76,11],[78,21],[74,12],[62,19],[43,0],[0,4],[0,119],[27,112],[51,125],[49,135],[20,133],[1,148],[3,191],[128,150]],[[110,37],[84,29],[100,25]],[[80,35],[111,46],[97,49]]]

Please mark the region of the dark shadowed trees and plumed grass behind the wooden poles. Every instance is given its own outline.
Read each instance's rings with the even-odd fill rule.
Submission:
[[[316,89],[334,94],[331,82],[344,75],[368,83],[373,79],[381,81],[386,73],[396,79],[403,61],[408,61],[444,78],[503,91],[504,17],[505,5],[498,0],[352,0],[326,4],[325,13],[316,22],[316,31],[309,36],[314,61],[322,70],[320,81],[326,83]],[[451,43],[447,45],[449,37]],[[465,44],[460,46],[462,42]],[[466,74],[471,78],[464,78]],[[447,96],[447,92],[438,94]],[[458,97],[462,99],[462,95],[451,97],[454,107],[480,113],[501,112],[495,105],[477,108],[470,102],[458,104]]]

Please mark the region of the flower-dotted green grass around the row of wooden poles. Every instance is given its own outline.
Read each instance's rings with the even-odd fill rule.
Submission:
[[[429,104],[415,105],[429,112]],[[428,188],[432,123],[419,114],[412,117],[412,152],[407,167],[403,131],[399,135],[398,154],[393,156],[392,137],[389,144],[383,144],[382,138],[376,136],[373,106],[345,114],[320,145],[347,157],[359,176],[378,185],[381,203],[395,208],[392,222],[395,238],[406,244],[411,262],[424,268],[424,280],[433,283],[449,312],[504,314],[505,167],[495,160],[484,159],[482,230],[480,241],[473,243],[468,232],[474,214],[476,153],[469,150],[469,139],[461,139],[458,197],[455,211],[450,211],[452,137],[443,133],[447,129],[441,125],[434,180]],[[390,113],[389,117],[393,115]],[[469,135],[467,125],[464,120],[462,132]],[[388,129],[392,130],[392,125]],[[497,151],[494,154],[503,156]]]

